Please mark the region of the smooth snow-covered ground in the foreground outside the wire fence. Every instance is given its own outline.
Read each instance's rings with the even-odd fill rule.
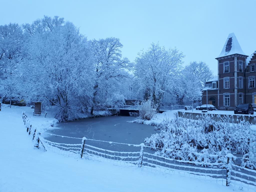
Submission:
[[[239,191],[204,177],[163,174],[34,149],[23,125],[23,110],[30,109],[3,107],[0,111],[1,192]],[[52,122],[47,118],[35,118],[33,121],[40,125],[44,124],[43,121]]]

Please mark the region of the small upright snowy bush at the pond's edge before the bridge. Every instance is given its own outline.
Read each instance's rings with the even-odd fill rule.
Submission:
[[[141,119],[151,120],[155,116],[156,109],[154,109],[154,103],[151,100],[144,100],[141,103],[137,103],[137,105]]]

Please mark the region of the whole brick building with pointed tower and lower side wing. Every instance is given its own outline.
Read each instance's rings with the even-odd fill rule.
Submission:
[[[218,77],[206,82],[208,104],[219,110],[234,110],[240,103],[256,104],[256,51],[247,56],[234,33],[229,34],[216,58]],[[206,89],[202,90],[202,104],[206,104]]]

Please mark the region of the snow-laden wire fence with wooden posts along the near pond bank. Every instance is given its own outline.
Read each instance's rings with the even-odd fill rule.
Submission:
[[[220,183],[226,186],[234,186],[241,190],[256,191],[256,170],[241,167],[241,161],[248,160],[247,158],[234,157],[234,156],[218,156],[210,154],[212,157],[224,159],[221,162],[196,162],[196,161],[183,161],[180,159],[172,159],[155,154],[155,151],[149,146],[142,144],[127,144],[109,141],[93,140],[88,138],[68,137],[56,135],[51,133],[44,133],[59,137],[68,137],[80,140],[80,143],[67,144],[56,143],[49,141],[41,136],[37,130],[29,125],[27,116],[23,113],[23,121],[30,138],[34,141],[35,147],[42,148],[45,151],[53,151],[55,153],[74,158],[91,159],[93,161],[112,162],[116,165],[136,166],[151,171],[160,171],[166,174],[178,173],[191,177],[199,177],[206,179],[210,182]],[[100,148],[93,146],[89,142],[101,143]],[[113,145],[126,145],[131,149],[127,151],[117,151]],[[111,148],[112,147],[112,148]],[[163,148],[158,148],[159,150]],[[185,153],[191,155],[189,151],[176,151],[178,153]],[[199,153],[197,153],[199,154]],[[201,153],[200,153],[201,154]]]

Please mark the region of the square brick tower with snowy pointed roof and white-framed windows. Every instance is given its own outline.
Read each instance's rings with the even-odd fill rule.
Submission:
[[[222,48],[218,60],[218,109],[233,110],[239,103],[244,103],[246,58],[234,33]]]

